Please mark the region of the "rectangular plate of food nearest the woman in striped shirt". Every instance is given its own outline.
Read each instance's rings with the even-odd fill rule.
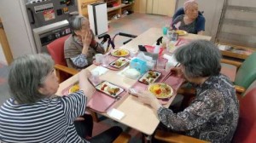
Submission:
[[[96,89],[98,91],[101,91],[102,93],[108,94],[112,97],[118,96],[125,90],[125,89],[122,89],[122,88],[114,85],[113,83],[109,83],[107,81],[104,81],[104,82],[96,85]]]

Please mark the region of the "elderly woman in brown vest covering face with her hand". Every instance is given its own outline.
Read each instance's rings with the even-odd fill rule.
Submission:
[[[90,66],[95,54],[105,52],[103,45],[97,43],[90,30],[89,20],[84,16],[75,16],[69,21],[73,35],[67,38],[64,44],[64,56],[67,66],[83,69]]]

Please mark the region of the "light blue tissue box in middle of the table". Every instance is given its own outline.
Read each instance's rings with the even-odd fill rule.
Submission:
[[[147,72],[148,70],[147,62],[145,60],[140,60],[138,58],[131,60],[130,66],[131,68],[135,68],[141,74]]]

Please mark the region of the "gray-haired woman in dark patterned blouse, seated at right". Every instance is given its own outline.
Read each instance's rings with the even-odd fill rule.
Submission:
[[[173,72],[195,84],[195,99],[177,113],[161,106],[148,91],[140,91],[139,100],[152,106],[168,130],[211,142],[230,142],[238,122],[239,104],[234,85],[220,73],[218,48],[208,41],[194,41],[177,49],[175,57],[181,66]]]

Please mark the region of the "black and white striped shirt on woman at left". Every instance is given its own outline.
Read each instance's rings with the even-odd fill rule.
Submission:
[[[73,121],[84,115],[83,91],[33,104],[7,100],[0,107],[0,140],[3,142],[87,142],[79,137]],[[0,141],[1,142],[1,141]]]

